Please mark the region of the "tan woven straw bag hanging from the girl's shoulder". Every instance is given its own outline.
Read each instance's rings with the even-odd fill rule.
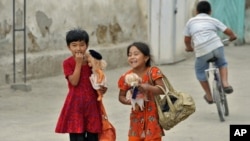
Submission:
[[[152,83],[151,75],[149,78]],[[162,80],[166,90],[162,86],[156,85],[162,89],[164,96],[155,96],[155,103],[160,125],[163,129],[169,130],[193,114],[196,107],[191,95],[175,90],[164,74]]]

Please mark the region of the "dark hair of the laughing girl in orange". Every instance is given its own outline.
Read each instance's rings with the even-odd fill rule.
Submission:
[[[131,45],[129,45],[127,47],[127,56],[129,56],[129,50],[130,50],[130,48],[132,46],[135,46],[138,50],[140,50],[140,52],[142,52],[142,54],[144,56],[148,56],[149,57],[148,61],[146,62],[146,66],[150,67],[151,66],[151,62],[152,62],[152,56],[150,54],[150,48],[149,48],[149,46],[146,43],[143,43],[143,42],[134,42],[134,43],[132,43]]]

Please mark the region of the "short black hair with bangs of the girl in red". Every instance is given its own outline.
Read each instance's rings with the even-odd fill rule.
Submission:
[[[84,41],[88,45],[89,44],[88,33],[81,28],[76,28],[68,31],[66,34],[67,45],[69,46],[70,43],[76,41]]]

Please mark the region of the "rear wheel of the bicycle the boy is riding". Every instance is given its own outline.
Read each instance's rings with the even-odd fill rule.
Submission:
[[[225,107],[224,102],[221,99],[220,89],[218,82],[216,80],[213,81],[213,97],[216,103],[216,107],[218,110],[218,115],[220,118],[220,121],[225,121]]]

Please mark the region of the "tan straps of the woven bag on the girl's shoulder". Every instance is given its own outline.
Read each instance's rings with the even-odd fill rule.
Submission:
[[[153,83],[153,79],[152,79],[152,75],[151,75],[152,68],[153,67],[151,67],[149,69],[148,76],[149,76],[150,83],[153,84],[153,85],[155,85]],[[172,103],[172,101],[171,101],[171,99],[169,97],[169,93],[173,93],[173,91],[175,91],[175,90],[174,90],[173,86],[169,83],[167,77],[164,74],[163,74],[162,81],[163,81],[163,84],[164,84],[164,87],[165,87],[166,90],[162,86],[160,86],[160,85],[155,85],[155,86],[157,86],[158,88],[160,88],[164,92],[164,94],[166,96],[166,99],[167,99],[167,103],[168,103],[169,109],[171,111],[175,112],[176,109],[175,109],[174,104]],[[167,89],[168,89],[168,91],[167,91]],[[162,115],[163,113],[162,113],[162,109],[161,109],[161,106],[160,106],[159,99],[160,99],[159,95],[155,96],[155,103],[157,104],[158,112],[160,111],[159,114]]]

